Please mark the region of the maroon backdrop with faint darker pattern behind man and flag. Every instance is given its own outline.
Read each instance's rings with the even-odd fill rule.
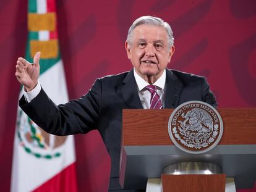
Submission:
[[[70,99],[97,77],[130,70],[127,30],[142,15],[171,23],[176,52],[169,68],[207,77],[219,107],[256,107],[256,1],[58,0],[58,30]],[[0,191],[9,191],[24,56],[27,2],[0,1]],[[106,191],[109,157],[96,131],[75,136],[80,191]]]

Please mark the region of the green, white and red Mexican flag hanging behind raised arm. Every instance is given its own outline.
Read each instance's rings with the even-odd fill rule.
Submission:
[[[58,44],[55,0],[28,0],[25,59],[40,57],[39,81],[55,104],[68,101]],[[22,89],[20,90],[20,97]],[[11,191],[77,191],[73,136],[54,136],[38,127],[21,109],[12,161]]]

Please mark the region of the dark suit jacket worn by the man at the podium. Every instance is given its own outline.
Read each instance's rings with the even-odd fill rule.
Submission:
[[[166,69],[164,108],[175,108],[192,100],[217,106],[204,77]],[[22,97],[19,104],[38,126],[54,135],[87,133],[98,129],[111,157],[109,190],[121,190],[122,109],[142,109],[133,70],[98,78],[87,94],[66,104],[56,106],[43,89],[31,102],[27,103]]]

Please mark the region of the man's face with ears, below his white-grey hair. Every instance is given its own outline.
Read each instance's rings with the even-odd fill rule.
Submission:
[[[174,53],[174,46],[170,48],[168,44],[167,31],[156,25],[137,26],[132,33],[132,43],[126,42],[125,46],[135,71],[145,80],[160,78]]]

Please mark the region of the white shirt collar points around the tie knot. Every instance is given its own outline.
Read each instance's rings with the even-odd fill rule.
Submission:
[[[134,78],[138,85],[139,91],[145,88],[145,86],[150,85],[147,81],[143,80],[143,78],[140,77],[140,75],[135,71],[135,69],[134,69]],[[166,69],[164,69],[164,72],[161,75],[161,77],[158,78],[158,80],[156,80],[155,83],[153,83],[153,85],[156,85],[162,90],[164,90],[165,80],[166,80]]]

